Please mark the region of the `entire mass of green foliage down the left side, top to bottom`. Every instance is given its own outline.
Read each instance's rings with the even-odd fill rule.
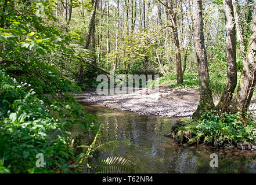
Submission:
[[[68,129],[73,124],[95,133],[98,129],[96,117],[85,115],[70,94],[81,89],[59,73],[66,65],[56,65],[77,62],[80,53],[70,42],[80,42],[81,36],[55,26],[55,1],[41,3],[44,17],[37,16],[37,1],[0,3],[2,172],[71,172],[75,157]],[[44,168],[35,167],[38,153],[44,154]]]

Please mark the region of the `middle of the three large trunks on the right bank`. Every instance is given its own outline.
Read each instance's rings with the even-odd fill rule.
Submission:
[[[236,74],[236,31],[235,31],[235,17],[233,13],[232,0],[223,0],[225,20],[226,20],[226,50],[227,50],[227,71],[228,78],[225,90],[222,93],[218,106],[222,106],[225,110],[226,104],[233,96],[236,88],[237,74]],[[217,107],[218,107],[217,106]]]

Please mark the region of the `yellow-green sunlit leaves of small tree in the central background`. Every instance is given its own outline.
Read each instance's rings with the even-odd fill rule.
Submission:
[[[119,60],[124,63],[124,66],[118,65],[120,73],[145,74],[145,65],[147,65],[149,74],[158,73],[159,69],[156,70],[157,59],[154,57],[154,51],[159,49],[157,40],[156,31],[145,31],[126,36],[120,44],[122,46],[120,50],[106,55],[109,58],[107,62],[113,65],[118,56]]]

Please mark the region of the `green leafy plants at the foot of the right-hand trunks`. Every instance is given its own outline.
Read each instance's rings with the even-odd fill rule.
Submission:
[[[192,128],[193,127],[193,128]],[[241,114],[235,113],[205,113],[190,127],[196,138],[204,141],[217,142],[256,142],[256,123],[252,119],[245,121]]]

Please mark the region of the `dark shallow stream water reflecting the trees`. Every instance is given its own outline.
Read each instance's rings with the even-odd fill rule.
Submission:
[[[169,117],[145,116],[121,110],[104,108],[82,101],[77,97],[86,112],[96,114],[103,124],[103,140],[127,139],[134,146],[114,147],[100,153],[106,159],[121,156],[134,161],[138,173],[255,173],[256,151],[237,149],[214,149],[210,146],[183,147],[176,141],[165,137],[171,126],[179,119]],[[82,137],[80,129],[74,129],[80,137],[80,145],[88,138]],[[74,134],[74,133],[73,133]],[[218,154],[218,168],[211,168],[211,153]]]

